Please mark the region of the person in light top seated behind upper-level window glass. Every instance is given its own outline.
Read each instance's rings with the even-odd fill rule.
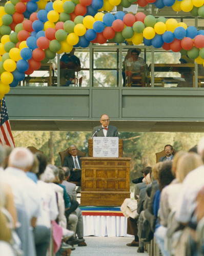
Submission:
[[[131,87],[133,83],[133,76],[141,77],[141,86],[145,86],[145,60],[139,57],[141,50],[133,49],[131,51],[132,57],[127,59],[126,76],[128,77],[128,86]]]

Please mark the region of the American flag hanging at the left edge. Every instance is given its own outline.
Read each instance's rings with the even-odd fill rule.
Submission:
[[[6,108],[5,98],[0,100],[0,108],[0,143],[2,143],[2,145],[8,145],[11,148],[14,148],[15,144],[11,133],[11,126],[9,123],[9,116]]]

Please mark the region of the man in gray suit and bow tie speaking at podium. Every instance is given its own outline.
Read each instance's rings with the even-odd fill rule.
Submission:
[[[100,117],[101,125],[94,127],[92,136],[95,137],[118,137],[117,128],[113,125],[109,125],[110,118],[108,115],[103,114]]]

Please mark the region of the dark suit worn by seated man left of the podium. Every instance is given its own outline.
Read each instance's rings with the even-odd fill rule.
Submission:
[[[78,158],[78,163],[79,163],[79,166],[81,168],[81,160],[80,160],[80,157],[77,156]],[[70,181],[81,181],[81,170],[73,170],[74,167],[74,161],[73,161],[73,158],[72,156],[67,156],[65,157],[64,159],[64,162],[63,162],[63,166],[67,166],[70,168],[70,178],[69,180]]]

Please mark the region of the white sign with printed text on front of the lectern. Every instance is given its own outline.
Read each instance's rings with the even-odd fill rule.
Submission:
[[[118,137],[93,137],[93,157],[118,157]]]

